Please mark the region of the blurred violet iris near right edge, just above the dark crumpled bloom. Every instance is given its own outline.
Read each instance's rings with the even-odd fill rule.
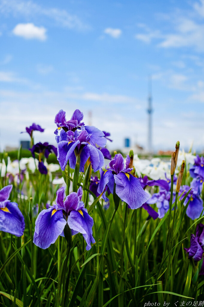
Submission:
[[[180,200],[183,199],[183,197],[187,194],[189,191],[190,187],[188,185],[183,185],[180,188],[179,195],[183,193],[183,195],[180,197]],[[191,197],[192,196],[192,197]],[[191,218],[191,220],[198,219],[199,216],[201,215],[201,212],[203,210],[203,201],[200,198],[199,194],[196,193],[196,191],[192,188],[191,191],[189,192],[186,200],[184,201],[184,206],[187,204],[188,200],[191,197],[190,204],[188,205],[188,208],[186,210],[186,214],[188,217]]]

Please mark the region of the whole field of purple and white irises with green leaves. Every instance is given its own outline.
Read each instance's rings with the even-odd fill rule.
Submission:
[[[111,156],[108,132],[65,116],[55,146],[33,123],[31,157],[1,154],[0,306],[204,306],[204,158]]]

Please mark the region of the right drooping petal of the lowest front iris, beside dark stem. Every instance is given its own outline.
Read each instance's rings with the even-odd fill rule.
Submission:
[[[70,215],[68,216],[67,224],[69,225],[70,229],[82,233],[85,241],[87,242],[86,250],[89,251],[91,249],[90,243],[95,243],[92,235],[94,221],[92,217],[89,216],[87,209],[82,209],[82,213],[83,215],[79,211],[71,211]]]

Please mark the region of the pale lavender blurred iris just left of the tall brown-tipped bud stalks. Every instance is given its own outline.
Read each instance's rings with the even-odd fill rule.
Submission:
[[[164,214],[169,210],[169,201],[171,193],[166,190],[161,190],[159,193],[154,193],[150,199],[147,200],[147,204],[156,204],[158,208],[159,218],[163,218]]]

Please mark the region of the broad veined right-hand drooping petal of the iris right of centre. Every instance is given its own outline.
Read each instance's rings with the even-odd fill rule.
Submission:
[[[149,195],[143,190],[138,178],[133,177],[129,173],[119,173],[114,175],[116,183],[116,194],[127,204],[131,209],[141,207],[148,199]]]

